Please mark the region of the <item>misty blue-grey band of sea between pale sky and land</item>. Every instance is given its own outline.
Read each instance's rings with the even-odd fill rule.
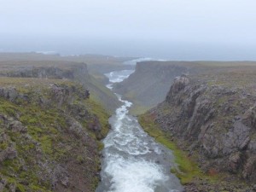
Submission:
[[[73,39],[3,38],[0,52],[31,52],[61,55],[114,55],[172,61],[256,61],[256,45],[187,44],[178,42]]]

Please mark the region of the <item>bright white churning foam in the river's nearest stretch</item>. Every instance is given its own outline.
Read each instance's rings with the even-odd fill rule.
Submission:
[[[112,192],[154,192],[155,183],[165,182],[160,166],[144,160],[111,158],[105,169],[112,176]]]

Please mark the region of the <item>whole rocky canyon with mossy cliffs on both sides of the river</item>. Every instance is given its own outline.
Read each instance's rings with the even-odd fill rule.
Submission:
[[[134,67],[123,65],[131,58],[87,55],[87,65],[83,56],[16,56],[0,55],[1,191],[121,191],[113,187],[117,174],[130,181],[128,173],[139,166],[146,172],[161,165],[161,173],[178,178],[173,191],[256,190],[255,62],[141,61]],[[119,72],[124,80],[109,85]],[[125,139],[130,142],[122,144]],[[128,152],[111,160],[107,151],[119,151],[114,146],[142,161],[134,166]],[[124,164],[123,175],[104,173]],[[168,191],[171,183],[149,182],[150,191]]]

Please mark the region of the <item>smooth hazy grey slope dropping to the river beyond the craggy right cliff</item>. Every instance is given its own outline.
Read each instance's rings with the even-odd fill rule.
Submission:
[[[143,61],[138,62],[135,73],[114,86],[114,90],[134,102],[135,107],[152,108],[163,102],[173,79],[182,73],[191,73],[186,62]],[[134,109],[135,111],[139,109]]]

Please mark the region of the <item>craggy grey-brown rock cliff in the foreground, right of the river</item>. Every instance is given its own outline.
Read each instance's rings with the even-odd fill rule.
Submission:
[[[178,77],[165,102],[148,112],[205,172],[256,182],[255,73]]]

